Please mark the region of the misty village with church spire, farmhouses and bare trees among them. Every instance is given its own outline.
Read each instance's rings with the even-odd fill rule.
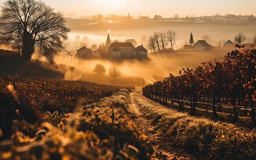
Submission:
[[[157,35],[159,34],[159,35]],[[191,33],[191,37],[189,39],[189,42],[185,42],[185,44],[177,49],[173,50],[173,45],[175,44],[176,39],[176,33],[171,32],[170,35],[170,44],[171,48],[167,48],[168,41],[168,35],[164,35],[164,38],[161,37],[162,33],[153,33],[153,35],[150,35],[148,38],[148,42],[145,45],[140,44],[136,42],[135,39],[126,39],[126,41],[120,42],[119,40],[110,40],[110,34],[108,33],[106,43],[100,44],[98,48],[95,48],[95,50],[92,50],[91,48],[87,48],[85,46],[81,46],[81,48],[76,50],[76,57],[82,58],[82,59],[90,59],[90,58],[106,58],[106,59],[148,59],[148,50],[153,51],[153,53],[178,53],[183,51],[204,51],[204,50],[212,50],[213,48],[220,48],[220,47],[235,47],[235,44],[241,44],[242,42],[245,43],[246,37],[243,35],[243,33],[238,33],[237,38],[234,39],[236,42],[233,43],[231,40],[227,40],[223,42],[217,42],[216,46],[213,46],[207,42],[208,37],[204,35],[202,39],[198,40],[194,43],[193,35]],[[155,37],[154,37],[155,36]],[[151,37],[151,39],[150,39]],[[156,38],[157,37],[157,38]],[[209,39],[209,37],[208,37]],[[162,43],[162,44],[161,44]],[[247,45],[253,45],[254,43],[247,43]],[[96,45],[97,46],[97,45]],[[162,48],[161,48],[162,46]],[[158,48],[157,48],[158,47]],[[162,49],[162,50],[161,50]],[[157,52],[156,52],[157,51]]]

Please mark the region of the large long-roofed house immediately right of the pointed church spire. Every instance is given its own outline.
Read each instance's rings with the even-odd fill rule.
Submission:
[[[132,55],[131,50],[133,50],[135,47],[132,45],[132,43],[128,43],[128,42],[114,42],[108,47],[109,55],[112,55],[112,51],[114,53],[117,52],[116,48],[120,50],[118,51],[118,53],[120,52],[120,55],[118,57],[127,57],[128,55]]]

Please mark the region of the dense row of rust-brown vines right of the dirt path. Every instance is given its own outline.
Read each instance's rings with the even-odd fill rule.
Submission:
[[[241,47],[241,46],[238,46]],[[209,61],[197,68],[183,68],[177,76],[147,85],[143,94],[151,99],[177,100],[179,110],[190,103],[191,114],[196,114],[198,103],[213,107],[213,117],[218,118],[216,107],[232,107],[234,123],[238,121],[237,108],[251,110],[256,127],[256,50],[245,49],[228,53],[223,61]],[[188,100],[188,101],[187,101]],[[211,101],[211,103],[210,103]]]

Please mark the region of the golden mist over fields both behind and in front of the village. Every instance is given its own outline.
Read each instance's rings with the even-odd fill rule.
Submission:
[[[119,40],[124,42],[126,39],[135,39],[137,45],[143,44],[148,46],[148,36],[153,32],[166,32],[173,30],[177,33],[176,44],[174,49],[178,50],[184,46],[184,41],[189,40],[189,34],[193,32],[194,41],[197,42],[203,35],[208,35],[210,39],[207,41],[212,46],[217,47],[217,42],[222,41],[224,44],[227,40],[234,41],[234,36],[237,33],[244,33],[247,38],[253,39],[256,35],[255,24],[250,23],[211,23],[211,22],[166,22],[166,21],[112,21],[112,20],[84,20],[84,19],[67,19],[67,26],[71,28],[69,33],[69,50],[73,50],[74,55],[76,49],[79,48],[79,41],[74,38],[87,37],[85,45],[90,47],[92,44],[99,45],[101,42],[106,42],[108,30],[110,30],[110,39],[112,41]],[[146,39],[141,38],[142,36]],[[245,41],[245,43],[249,41]],[[170,45],[166,48],[171,47]],[[222,60],[231,50],[238,48],[232,47],[217,47],[213,50],[204,51],[181,51],[179,53],[162,53],[148,54],[148,60],[122,60],[110,61],[107,59],[78,59],[70,64],[67,58],[65,61],[56,58],[57,63],[76,66],[86,72],[92,72],[94,66],[98,63],[103,64],[106,68],[111,65],[117,66],[124,75],[135,75],[141,77],[152,77],[153,74],[168,77],[169,73],[177,74],[182,68],[192,68],[201,65],[201,62],[214,59]],[[152,52],[153,50],[148,50]]]

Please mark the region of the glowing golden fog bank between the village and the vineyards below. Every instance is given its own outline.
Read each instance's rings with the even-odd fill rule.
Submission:
[[[210,60],[222,61],[224,56],[231,50],[237,49],[234,46],[218,47],[213,50],[207,51],[180,51],[177,53],[149,53],[146,60],[120,60],[110,61],[108,59],[80,59],[78,57],[72,57],[67,55],[58,55],[55,57],[57,64],[66,64],[68,66],[74,66],[76,72],[74,79],[79,79],[83,74],[92,73],[96,64],[103,64],[106,69],[110,66],[116,66],[123,72],[123,75],[132,75],[138,77],[144,77],[146,83],[155,81],[153,75],[159,77],[168,77],[169,73],[177,75],[182,68],[193,68],[201,65],[201,62]],[[69,70],[70,72],[70,70]],[[70,73],[69,73],[70,74]],[[106,73],[107,74],[107,73]]]

